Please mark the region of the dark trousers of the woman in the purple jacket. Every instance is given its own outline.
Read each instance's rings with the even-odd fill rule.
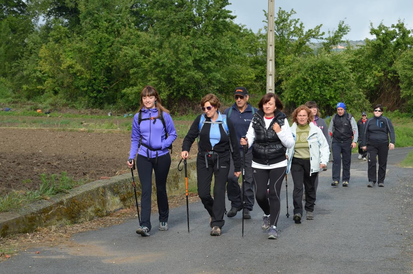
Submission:
[[[155,172],[156,196],[158,203],[159,222],[168,222],[169,204],[166,195],[166,178],[168,177],[169,167],[171,167],[171,155],[165,154],[158,157],[158,163],[155,164],[156,158],[147,159],[146,156],[138,155],[136,158],[136,167],[140,184],[142,186],[142,195],[140,197],[140,225],[146,226],[151,230],[151,196],[152,196],[152,169]]]

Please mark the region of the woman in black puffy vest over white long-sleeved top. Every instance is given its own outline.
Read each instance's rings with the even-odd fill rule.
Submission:
[[[287,148],[294,145],[290,125],[282,110],[278,95],[267,93],[258,103],[259,111],[249,125],[241,145],[252,148],[252,176],[255,199],[263,210],[261,228],[268,230],[268,239],[277,239],[277,221],[280,215],[281,184],[287,171]],[[269,179],[269,191],[267,183]]]

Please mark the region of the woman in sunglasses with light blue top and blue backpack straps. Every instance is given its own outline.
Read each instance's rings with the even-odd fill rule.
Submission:
[[[234,175],[241,174],[241,157],[237,134],[230,119],[219,112],[221,103],[210,93],[202,98],[201,110],[182,143],[181,156],[188,158],[192,143],[199,136],[197,154],[197,186],[202,204],[209,213],[211,236],[220,236],[225,221],[225,186],[230,170],[230,153],[234,160]],[[212,175],[214,198],[211,196]]]

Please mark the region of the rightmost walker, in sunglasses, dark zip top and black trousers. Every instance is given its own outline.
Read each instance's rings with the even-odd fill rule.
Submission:
[[[374,116],[367,120],[364,124],[362,132],[362,149],[367,150],[368,153],[368,185],[373,187],[376,184],[384,187],[387,167],[387,155],[389,150],[394,149],[396,142],[396,135],[392,121],[383,116],[382,105],[375,105]],[[390,143],[389,143],[390,136]],[[379,158],[379,169],[376,174],[376,156]]]

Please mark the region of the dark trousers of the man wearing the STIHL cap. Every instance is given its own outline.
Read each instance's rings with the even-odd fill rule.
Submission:
[[[244,159],[244,151],[240,150],[241,161]],[[245,154],[245,206],[249,211],[252,211],[254,206],[254,183],[252,182],[252,149]],[[242,169],[241,169],[242,173]],[[240,176],[241,177],[241,176]],[[243,189],[238,184],[238,177],[234,175],[234,161],[230,157],[230,171],[227,179],[227,196],[231,201],[231,207],[242,207],[242,192]]]

